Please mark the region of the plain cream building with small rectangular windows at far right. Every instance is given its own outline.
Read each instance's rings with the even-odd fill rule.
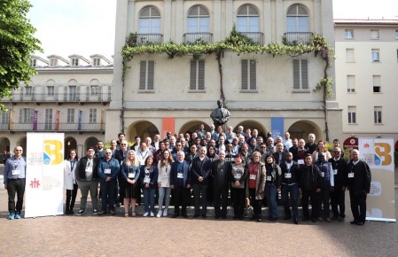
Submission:
[[[396,143],[398,19],[335,19],[334,27],[343,137],[390,137]]]

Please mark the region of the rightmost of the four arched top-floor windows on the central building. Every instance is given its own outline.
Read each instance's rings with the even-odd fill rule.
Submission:
[[[307,9],[300,4],[292,5],[287,11],[286,24],[287,32],[308,32],[309,17]]]

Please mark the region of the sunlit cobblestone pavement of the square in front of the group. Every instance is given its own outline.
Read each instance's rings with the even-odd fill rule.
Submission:
[[[398,224],[350,225],[352,215],[349,203],[346,205],[345,222],[300,225],[233,221],[230,217],[226,221],[124,218],[90,212],[8,221],[7,193],[2,186],[0,256],[396,256]],[[395,209],[398,214],[396,203]]]

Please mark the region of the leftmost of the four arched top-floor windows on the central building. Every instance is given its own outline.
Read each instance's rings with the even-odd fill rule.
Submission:
[[[141,11],[139,33],[160,33],[160,12],[155,7],[147,6]]]

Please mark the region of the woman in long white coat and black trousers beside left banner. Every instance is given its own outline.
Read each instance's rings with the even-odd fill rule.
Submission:
[[[77,154],[75,149],[68,152],[68,159],[64,161],[64,188],[66,189],[65,214],[74,214],[74,201],[77,195],[77,183],[74,171],[77,164]]]

